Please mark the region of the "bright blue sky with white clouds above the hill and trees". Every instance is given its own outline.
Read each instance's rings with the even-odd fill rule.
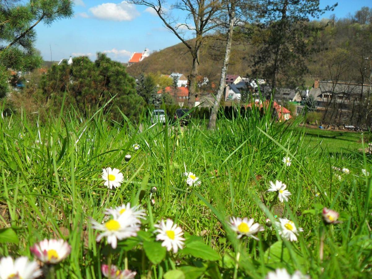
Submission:
[[[134,6],[126,1],[74,0],[74,17],[52,23],[39,24],[36,48],[44,60],[59,61],[71,56],[88,55],[92,60],[96,52],[106,52],[109,57],[127,62],[132,52],[150,51],[170,47],[180,41],[167,31],[156,15],[144,6]],[[320,0],[321,7],[336,1]],[[354,14],[363,6],[371,7],[371,0],[339,0],[332,13],[341,18]],[[179,19],[180,23],[182,18]],[[187,38],[192,34],[186,33]]]

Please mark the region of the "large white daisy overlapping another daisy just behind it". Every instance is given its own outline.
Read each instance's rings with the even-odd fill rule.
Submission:
[[[122,217],[114,217],[104,224],[100,224],[93,219],[91,219],[91,222],[94,229],[103,231],[102,234],[97,236],[96,241],[98,242],[103,237],[107,237],[107,243],[111,244],[114,249],[118,244],[118,240],[137,236],[137,231],[140,230],[140,225],[134,223],[132,219]]]

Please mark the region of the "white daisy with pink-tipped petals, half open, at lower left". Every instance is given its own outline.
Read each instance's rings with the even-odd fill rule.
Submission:
[[[44,239],[30,250],[43,263],[59,263],[71,253],[71,246],[62,239]]]

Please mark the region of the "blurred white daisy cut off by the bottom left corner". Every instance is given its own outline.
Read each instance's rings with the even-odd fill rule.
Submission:
[[[1,279],[33,279],[42,275],[36,261],[30,262],[28,257],[19,257],[13,260],[12,257],[3,257],[0,260]]]

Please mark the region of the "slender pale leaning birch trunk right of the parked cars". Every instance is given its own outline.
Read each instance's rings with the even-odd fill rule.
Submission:
[[[217,112],[219,109],[219,101],[221,100],[222,93],[225,91],[225,80],[226,80],[226,73],[227,67],[230,60],[230,52],[231,52],[231,42],[232,42],[232,33],[234,32],[234,20],[235,20],[235,1],[231,3],[231,9],[229,13],[229,29],[227,32],[227,41],[226,41],[226,48],[225,48],[225,58],[224,63],[222,65],[221,70],[221,79],[219,80],[219,87],[217,91],[216,99],[214,100],[212,106],[211,116],[209,117],[209,124],[208,129],[214,129],[216,127],[217,121]]]

